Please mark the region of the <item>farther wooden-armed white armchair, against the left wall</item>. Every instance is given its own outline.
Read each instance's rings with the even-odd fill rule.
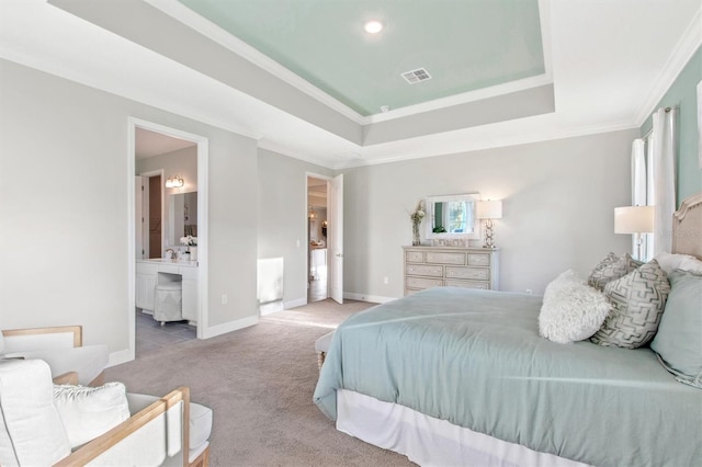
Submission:
[[[107,366],[107,346],[83,345],[82,339],[80,326],[3,330],[0,358],[43,360],[55,378],[73,372],[79,384],[100,386]]]

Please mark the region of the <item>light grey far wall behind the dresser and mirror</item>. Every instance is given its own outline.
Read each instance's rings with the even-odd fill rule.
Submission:
[[[411,243],[409,213],[426,196],[469,192],[503,200],[503,217],[495,221],[502,291],[541,294],[567,269],[587,274],[609,251],[630,250],[630,236],[614,234],[613,208],[630,204],[631,143],[637,134],[632,129],[343,171],[344,292],[400,297],[401,246]]]

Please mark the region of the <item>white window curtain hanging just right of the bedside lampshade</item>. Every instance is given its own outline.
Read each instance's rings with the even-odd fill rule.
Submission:
[[[653,252],[670,252],[672,247],[672,213],[676,210],[677,110],[658,109],[653,115],[652,166],[654,217]],[[653,193],[652,193],[653,192]]]

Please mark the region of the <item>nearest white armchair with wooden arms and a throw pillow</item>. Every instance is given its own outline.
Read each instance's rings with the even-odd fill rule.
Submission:
[[[161,398],[122,387],[116,401],[114,388],[57,396],[45,362],[0,361],[0,465],[207,466],[212,410],[191,403],[186,386]]]

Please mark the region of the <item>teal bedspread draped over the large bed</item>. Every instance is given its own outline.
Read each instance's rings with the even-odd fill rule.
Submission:
[[[650,349],[539,335],[541,297],[437,287],[339,326],[314,400],[336,390],[395,402],[597,466],[702,465],[702,390]]]

